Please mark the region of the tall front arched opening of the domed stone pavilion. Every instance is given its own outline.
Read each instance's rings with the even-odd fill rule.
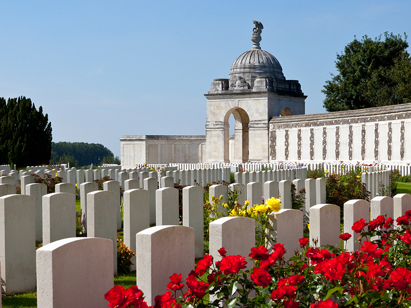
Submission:
[[[249,140],[248,140],[248,125],[250,118],[246,110],[234,107],[227,111],[224,117],[224,161],[230,162],[230,115],[233,114],[234,125],[234,145],[233,155],[231,156],[232,163],[245,163],[248,162],[249,157]]]

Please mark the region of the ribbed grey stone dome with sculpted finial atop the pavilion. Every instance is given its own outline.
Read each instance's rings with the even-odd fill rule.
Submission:
[[[261,41],[261,29],[263,24],[253,21],[255,27],[251,36],[253,47],[235,59],[231,66],[229,75],[230,88],[254,86],[254,81],[259,76],[269,76],[273,80],[285,80],[283,68],[278,60],[271,53],[261,50],[259,42]]]

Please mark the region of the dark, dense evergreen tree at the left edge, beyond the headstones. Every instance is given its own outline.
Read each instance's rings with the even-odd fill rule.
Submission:
[[[0,163],[17,166],[47,164],[51,155],[51,123],[30,99],[0,98]]]

